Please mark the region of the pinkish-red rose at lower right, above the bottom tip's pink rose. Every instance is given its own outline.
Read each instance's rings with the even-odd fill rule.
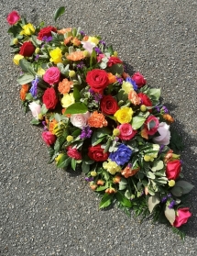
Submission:
[[[166,166],[166,176],[169,180],[176,180],[181,173],[181,161],[169,161]]]

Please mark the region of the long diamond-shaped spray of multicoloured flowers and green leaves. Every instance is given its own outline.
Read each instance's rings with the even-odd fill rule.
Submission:
[[[160,89],[140,72],[129,75],[112,46],[81,28],[35,27],[16,11],[7,22],[20,99],[31,124],[43,127],[49,163],[80,168],[100,208],[117,203],[128,214],[151,214],[183,237],[192,216],[183,199],[193,186],[181,179],[181,139]]]

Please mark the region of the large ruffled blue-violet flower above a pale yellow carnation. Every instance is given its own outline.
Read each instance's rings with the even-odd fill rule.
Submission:
[[[115,161],[118,165],[124,165],[130,160],[132,150],[126,145],[121,144],[115,152],[110,153],[109,158]]]

